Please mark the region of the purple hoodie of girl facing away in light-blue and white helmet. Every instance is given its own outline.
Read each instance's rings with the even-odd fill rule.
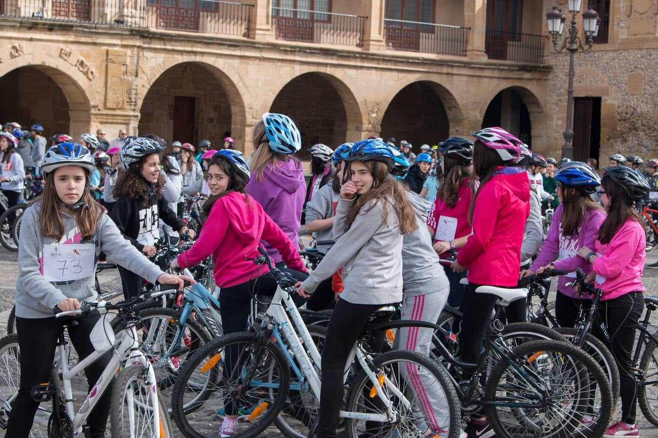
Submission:
[[[263,206],[265,213],[286,233],[297,248],[301,209],[306,197],[304,168],[301,162],[291,158],[288,162],[279,162],[278,167],[268,164],[263,177],[263,181],[258,181],[256,172],[251,172],[247,192]],[[277,250],[263,240],[261,243],[274,263],[282,261]]]

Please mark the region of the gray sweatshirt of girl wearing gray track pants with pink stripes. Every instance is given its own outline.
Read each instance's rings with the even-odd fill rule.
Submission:
[[[432,292],[450,292],[450,283],[439,257],[432,248],[432,236],[427,229],[427,210],[430,201],[420,198],[414,192],[407,192],[407,199],[416,213],[418,229],[405,234],[402,243],[402,278],[404,295],[418,296]]]

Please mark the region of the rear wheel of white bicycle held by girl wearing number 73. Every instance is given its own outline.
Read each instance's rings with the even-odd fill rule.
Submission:
[[[20,384],[20,349],[18,335],[12,334],[0,339],[0,420],[7,421],[11,405],[18,394]],[[48,403],[39,405],[34,416],[30,437],[46,438],[48,420],[51,416]]]

